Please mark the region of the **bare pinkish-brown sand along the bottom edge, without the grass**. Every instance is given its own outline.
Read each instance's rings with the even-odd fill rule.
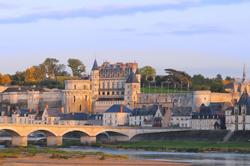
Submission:
[[[48,155],[36,155],[32,157],[4,158],[0,159],[1,166],[185,166],[162,161],[107,158],[101,160],[97,156],[83,158],[51,159]]]

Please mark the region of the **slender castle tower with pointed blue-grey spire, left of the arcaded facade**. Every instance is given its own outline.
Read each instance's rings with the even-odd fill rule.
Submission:
[[[99,83],[100,83],[100,75],[99,75],[99,67],[97,61],[95,59],[92,71],[91,71],[91,87],[92,87],[92,95],[93,99],[97,100],[99,96]]]

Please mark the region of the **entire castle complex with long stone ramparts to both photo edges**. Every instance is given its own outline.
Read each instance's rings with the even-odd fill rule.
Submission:
[[[0,109],[44,109],[60,108],[65,113],[102,113],[114,104],[123,104],[131,109],[160,104],[163,107],[192,107],[199,111],[202,104],[226,103],[234,105],[245,90],[250,94],[250,82],[236,79],[225,87],[227,93],[193,91],[187,93],[147,94],[140,93],[137,63],[104,62],[98,66],[94,61],[90,75],[85,79],[65,81],[65,89],[36,87],[0,87]]]

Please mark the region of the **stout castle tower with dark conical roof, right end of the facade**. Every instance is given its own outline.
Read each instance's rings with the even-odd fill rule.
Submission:
[[[131,72],[125,83],[125,104],[131,108],[135,108],[136,104],[138,103],[140,91],[140,82],[138,81],[136,74]]]

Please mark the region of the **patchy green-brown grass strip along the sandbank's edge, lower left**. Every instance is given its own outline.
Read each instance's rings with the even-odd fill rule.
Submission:
[[[56,148],[37,148],[34,146],[7,148],[0,150],[0,158],[18,158],[21,156],[30,157],[38,154],[49,155],[51,159],[70,159],[70,158],[84,158],[86,156],[97,156],[100,160],[106,158],[121,158],[127,159],[126,155],[112,155],[103,152],[80,152],[80,151],[64,151]]]

